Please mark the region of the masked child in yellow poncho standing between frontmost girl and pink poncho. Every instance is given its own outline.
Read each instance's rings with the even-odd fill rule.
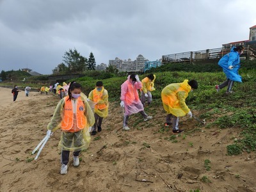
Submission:
[[[95,124],[92,127],[91,135],[96,134],[96,129],[100,132],[103,118],[108,116],[108,91],[104,89],[102,81],[97,81],[96,87],[89,93],[89,100],[92,100],[94,106]]]

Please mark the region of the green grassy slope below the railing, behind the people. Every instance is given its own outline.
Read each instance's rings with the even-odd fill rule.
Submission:
[[[149,110],[161,109],[161,90],[164,86],[170,83],[180,83],[184,79],[196,79],[198,81],[198,90],[189,93],[186,102],[189,108],[193,111],[196,110],[202,114],[200,118],[212,118],[212,116],[218,115],[218,118],[211,124],[207,124],[207,128],[211,126],[218,126],[221,129],[230,127],[241,127],[241,140],[237,140],[234,145],[228,148],[228,154],[239,154],[242,149],[248,151],[255,150],[256,147],[256,115],[255,115],[255,96],[256,96],[256,70],[253,68],[256,61],[244,61],[243,68],[241,68],[240,75],[243,77],[243,83],[235,83],[235,94],[226,95],[225,88],[220,93],[216,93],[214,88],[215,84],[220,84],[225,80],[225,74],[220,72],[218,65],[211,65],[207,70],[216,72],[182,72],[173,71],[177,70],[175,65],[165,65],[160,68],[156,68],[156,91],[152,92],[154,102],[150,106]],[[180,64],[178,64],[180,65]],[[186,70],[190,71],[204,71],[204,65],[198,66],[186,64]],[[171,71],[170,71],[171,70]],[[141,75],[140,79],[147,76],[147,74]],[[127,77],[114,77],[110,79],[104,79],[104,87],[109,92],[109,100],[119,101],[120,86]],[[96,79],[87,78],[88,81],[83,79],[76,79],[81,83],[86,95],[93,89],[96,83]],[[89,80],[90,79],[90,80]],[[100,80],[100,79],[99,79]],[[246,129],[245,129],[246,128]],[[255,129],[255,130],[254,130]]]

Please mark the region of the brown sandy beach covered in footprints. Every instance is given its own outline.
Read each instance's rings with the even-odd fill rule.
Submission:
[[[70,155],[68,173],[60,175],[60,130],[37,160],[31,155],[60,99],[38,92],[26,97],[22,90],[13,102],[8,88],[0,88],[0,95],[0,191],[256,191],[255,153],[226,155],[241,130],[205,129],[183,118],[186,137],[171,140],[170,132],[160,131],[165,113],[159,106],[157,113],[145,108],[152,121],[132,116],[132,129],[125,132],[119,102],[110,104],[102,132],[81,153],[80,166],[72,166]],[[193,131],[197,128],[202,131]],[[205,159],[211,161],[210,170]]]

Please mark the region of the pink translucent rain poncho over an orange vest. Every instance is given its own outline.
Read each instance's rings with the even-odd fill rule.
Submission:
[[[139,99],[138,90],[141,89],[141,82],[131,83],[130,76],[121,85],[121,100],[124,101],[124,115],[132,115],[143,111],[143,104]]]

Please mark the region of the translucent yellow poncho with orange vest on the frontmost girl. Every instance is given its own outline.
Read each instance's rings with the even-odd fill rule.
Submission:
[[[76,100],[68,100],[67,96],[61,99],[56,106],[47,129],[52,132],[61,129],[59,142],[61,150],[79,151],[88,148],[90,144],[89,127],[94,124],[95,119],[86,99],[87,97],[83,93]],[[71,106],[71,108],[68,109],[67,106]],[[74,113],[75,111],[76,113]],[[81,127],[82,125],[83,127]]]

